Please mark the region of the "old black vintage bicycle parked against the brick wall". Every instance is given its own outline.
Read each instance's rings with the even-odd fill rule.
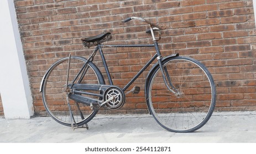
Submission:
[[[200,129],[210,119],[216,103],[216,87],[212,75],[200,62],[178,53],[162,57],[154,32],[162,30],[149,20],[131,17],[124,20],[144,21],[149,25],[153,43],[149,45],[102,45],[111,40],[110,32],[82,38],[86,47],[96,46],[88,59],[69,56],[55,62],[47,70],[41,81],[40,92],[46,111],[56,122],[72,127],[86,127],[100,108],[119,109],[126,102],[126,95],[138,94],[130,85],[156,59],[145,79],[145,101],[149,114],[166,130],[187,133]],[[124,87],[113,84],[108,65],[103,54],[105,47],[153,47],[156,51],[147,64]],[[100,57],[107,74],[108,85],[100,69],[93,63],[96,53]],[[139,58],[139,57],[138,57]]]

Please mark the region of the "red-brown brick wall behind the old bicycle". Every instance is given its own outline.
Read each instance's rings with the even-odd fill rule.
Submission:
[[[208,67],[216,81],[217,110],[256,109],[256,31],[252,1],[14,0],[14,3],[36,113],[44,111],[39,86],[50,65],[70,52],[85,57],[92,52],[92,48],[82,46],[81,37],[110,31],[114,38],[107,44],[151,43],[144,24],[123,23],[123,19],[132,16],[166,27],[159,42],[165,56],[180,53]],[[114,84],[121,87],[154,53],[149,48],[104,51]],[[146,75],[147,72],[134,83],[142,91],[129,95],[126,105],[114,113],[147,111],[143,91]]]

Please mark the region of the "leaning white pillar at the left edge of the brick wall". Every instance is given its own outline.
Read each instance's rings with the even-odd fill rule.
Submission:
[[[29,119],[33,99],[13,0],[0,1],[0,93],[6,119]]]

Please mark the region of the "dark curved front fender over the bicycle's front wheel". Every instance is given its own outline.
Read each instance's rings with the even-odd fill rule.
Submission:
[[[171,55],[169,55],[169,56],[164,57],[164,58],[161,60],[161,62],[164,62],[166,59],[169,59],[169,58],[171,58],[171,57],[177,57],[177,56],[179,56],[179,53],[171,54]],[[150,80],[151,75],[153,75],[154,71],[155,71],[156,69],[158,69],[158,68],[159,68],[159,64],[158,64],[158,62],[157,62],[157,63],[155,63],[155,64],[153,65],[153,67],[149,70],[149,73],[148,73],[147,78],[146,78],[146,80],[145,80],[145,99],[146,99],[146,102],[147,102],[148,109],[149,109],[149,101],[148,101],[149,80]],[[150,113],[150,110],[149,110],[149,114],[151,114],[151,113]]]

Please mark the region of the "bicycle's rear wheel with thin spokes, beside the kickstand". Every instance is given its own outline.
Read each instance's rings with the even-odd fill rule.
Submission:
[[[71,127],[70,112],[65,96],[67,67],[69,57],[62,58],[55,62],[48,72],[45,74],[42,95],[43,104],[46,111],[58,123]],[[83,57],[70,58],[70,74],[69,83],[74,80],[76,74],[81,70],[82,66],[87,62]],[[92,62],[88,62],[88,69],[85,76],[81,79],[79,76],[75,82],[80,84],[105,84],[100,70]],[[100,98],[98,98],[100,99]],[[90,106],[69,99],[71,111],[74,114],[74,126],[80,127],[95,117],[97,110],[91,110]]]

